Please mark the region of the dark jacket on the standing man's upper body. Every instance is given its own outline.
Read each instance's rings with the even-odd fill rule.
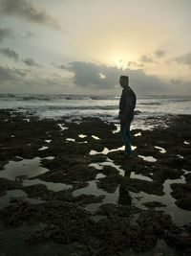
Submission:
[[[128,109],[128,115],[134,115],[137,97],[135,92],[129,86],[122,90],[119,102],[119,118],[121,118]]]

